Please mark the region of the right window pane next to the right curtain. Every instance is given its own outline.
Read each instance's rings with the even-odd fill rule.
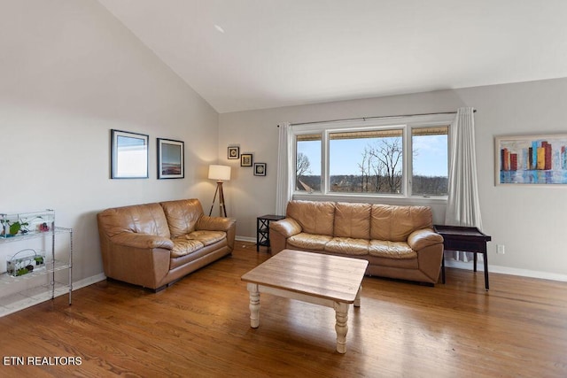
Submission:
[[[412,194],[447,196],[448,127],[412,129]]]

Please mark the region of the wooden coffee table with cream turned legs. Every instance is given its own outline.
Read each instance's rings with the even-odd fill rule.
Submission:
[[[369,262],[320,253],[283,250],[242,276],[250,292],[250,326],[260,326],[260,293],[335,309],[337,351],[346,353],[348,308],[361,305]]]

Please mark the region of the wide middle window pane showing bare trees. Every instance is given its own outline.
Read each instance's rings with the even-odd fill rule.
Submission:
[[[330,191],[401,194],[401,128],[331,133]]]

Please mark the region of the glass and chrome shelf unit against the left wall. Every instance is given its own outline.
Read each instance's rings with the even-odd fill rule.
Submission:
[[[15,251],[13,247],[16,245],[23,250],[30,244],[44,243],[46,255],[44,266],[27,274],[0,274],[0,317],[65,294],[68,294],[68,302],[71,305],[73,229],[56,227],[55,212],[52,210],[19,214],[0,213],[0,222],[1,248]],[[9,227],[15,222],[20,222],[20,228],[18,232],[10,233]],[[12,228],[12,231],[15,229]],[[22,229],[24,232],[21,232]]]

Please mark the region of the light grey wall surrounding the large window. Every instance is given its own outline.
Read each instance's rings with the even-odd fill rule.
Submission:
[[[488,245],[490,266],[563,279],[567,277],[563,243],[567,187],[494,186],[493,137],[567,132],[565,98],[567,79],[561,79],[221,114],[221,161],[228,145],[239,144],[241,152],[253,152],[255,161],[268,163],[268,176],[262,178],[253,176],[251,168],[237,166],[236,160],[224,158],[236,167],[226,189],[229,212],[237,216],[238,235],[255,238],[256,217],[275,211],[276,125],[282,121],[454,112],[460,106],[472,106],[478,110],[476,143],[484,230],[493,237]],[[435,212],[436,220],[444,219],[444,207],[436,206]],[[504,244],[506,254],[497,255],[496,244]]]

